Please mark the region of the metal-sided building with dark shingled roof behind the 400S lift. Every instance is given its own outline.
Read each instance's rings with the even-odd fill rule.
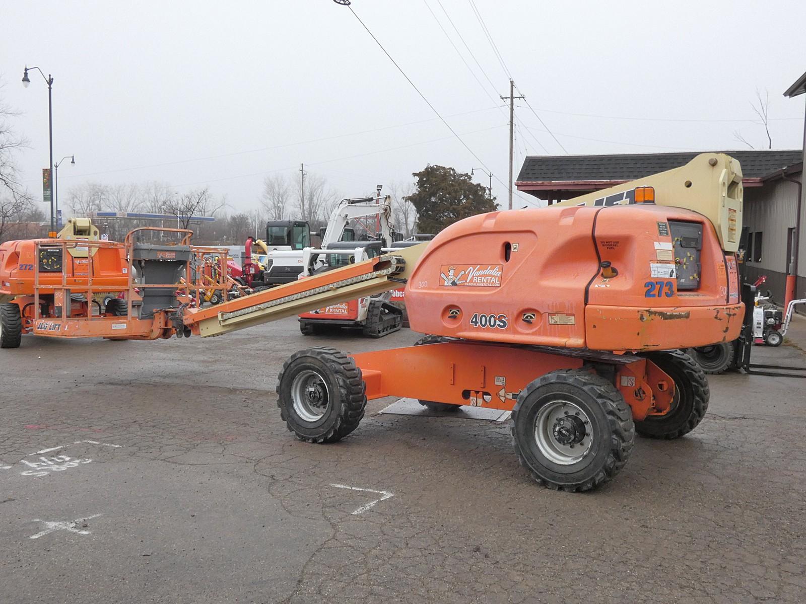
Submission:
[[[552,204],[628,180],[678,168],[698,152],[625,155],[550,155],[527,157],[515,185]],[[796,254],[796,216],[800,204],[803,151],[720,151],[742,164],[744,225],[750,230],[747,275],[767,275],[767,284],[783,304],[786,275],[797,272],[796,296],[806,297],[806,237]],[[806,212],[800,213],[800,232]]]

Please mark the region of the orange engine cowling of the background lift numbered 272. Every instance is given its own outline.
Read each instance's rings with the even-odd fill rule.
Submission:
[[[32,296],[34,293],[35,266],[39,263],[40,285],[61,285],[62,269],[67,285],[86,285],[89,261],[87,250],[78,250],[77,255],[65,254],[61,258],[60,246],[53,246],[48,253],[47,246],[40,248],[41,258],[35,258],[36,244],[48,240],[24,239],[5,242],[0,245],[0,295]],[[80,247],[80,243],[77,244]],[[95,250],[92,259],[93,288],[98,292],[103,287],[126,288],[128,283],[126,254],[123,244],[101,247]]]

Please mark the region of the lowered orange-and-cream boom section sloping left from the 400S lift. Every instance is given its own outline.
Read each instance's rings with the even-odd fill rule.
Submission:
[[[202,337],[220,336],[285,316],[400,288],[426,243],[236,298],[210,308],[186,308],[185,325]]]

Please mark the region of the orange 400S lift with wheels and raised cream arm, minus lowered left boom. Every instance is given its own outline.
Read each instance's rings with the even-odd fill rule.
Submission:
[[[553,207],[459,221],[397,275],[412,329],[432,335],[293,354],[281,415],[302,440],[332,442],[358,426],[367,399],[512,410],[535,480],[591,489],[625,465],[636,432],[672,439],[702,420],[708,382],[677,349],[738,336],[741,221],[741,168],[717,154]]]

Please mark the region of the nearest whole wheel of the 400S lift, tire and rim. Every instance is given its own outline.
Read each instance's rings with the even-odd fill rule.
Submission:
[[[552,371],[521,391],[512,412],[518,461],[550,489],[591,490],[624,467],[635,441],[621,392],[585,370]]]

